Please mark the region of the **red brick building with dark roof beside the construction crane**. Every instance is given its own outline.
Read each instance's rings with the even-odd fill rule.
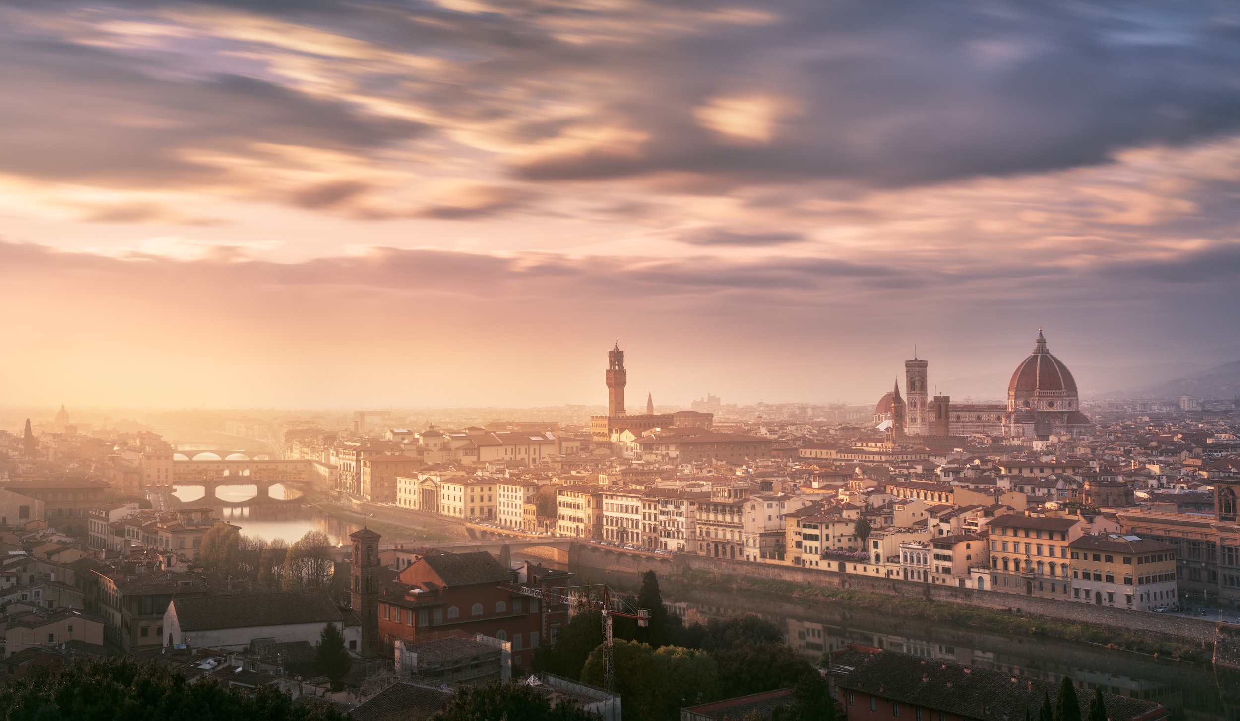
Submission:
[[[486,551],[423,556],[381,588],[381,653],[391,655],[398,639],[415,643],[443,631],[463,631],[512,642],[512,663],[527,665],[529,652],[554,640],[568,623],[568,608],[501,585],[557,588],[569,577],[529,562],[510,571]]]

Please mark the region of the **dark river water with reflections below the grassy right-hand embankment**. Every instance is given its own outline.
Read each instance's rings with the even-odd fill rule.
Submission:
[[[588,567],[569,569],[583,582],[606,581],[636,592],[639,579]],[[1078,686],[1157,701],[1172,719],[1236,721],[1236,709],[1225,709],[1208,664],[1187,664],[1153,657],[1105,650],[1086,643],[977,632],[924,618],[899,618],[841,606],[801,606],[795,600],[758,592],[689,590],[660,579],[668,610],[693,622],[738,612],[775,621],[785,642],[817,662],[823,652],[848,643],[910,653],[931,659],[992,668],[1012,675],[1059,681],[1069,676]]]

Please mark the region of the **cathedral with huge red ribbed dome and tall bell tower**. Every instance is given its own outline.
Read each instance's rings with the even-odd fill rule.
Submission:
[[[1033,353],[1017,365],[1008,382],[1006,404],[951,403],[946,395],[929,398],[929,363],[920,358],[904,362],[905,395],[900,399],[899,382],[874,409],[874,420],[908,436],[965,436],[986,434],[1007,439],[1047,439],[1087,434],[1094,424],[1080,410],[1076,379],[1047,349],[1047,338],[1038,330]],[[903,415],[903,422],[894,416]]]

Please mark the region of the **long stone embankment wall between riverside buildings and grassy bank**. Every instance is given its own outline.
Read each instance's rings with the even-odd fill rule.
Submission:
[[[570,556],[572,561],[575,564],[610,571],[631,574],[655,571],[660,575],[672,575],[682,570],[707,571],[743,576],[746,579],[787,581],[802,586],[821,586],[867,593],[887,593],[889,596],[925,598],[929,601],[960,603],[981,608],[1012,610],[1042,618],[1080,621],[1140,631],[1180,642],[1207,644],[1211,644],[1214,642],[1214,622],[1202,618],[1151,613],[1147,611],[1128,611],[1126,608],[1095,606],[1092,603],[1074,603],[1071,601],[1056,601],[1053,598],[1039,598],[1037,596],[1024,596],[1019,593],[978,591],[976,588],[959,588],[955,586],[921,583],[919,581],[879,579],[854,574],[841,574],[838,571],[825,571],[820,569],[802,569],[799,566],[758,564],[753,561],[733,561],[688,554],[677,554],[676,556],[653,556],[625,551],[618,553],[611,549],[600,549],[598,546],[585,545],[574,546],[574,553],[570,554]]]

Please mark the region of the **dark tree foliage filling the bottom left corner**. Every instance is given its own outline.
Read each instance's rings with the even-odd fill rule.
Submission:
[[[33,666],[0,689],[0,721],[192,719],[193,721],[343,721],[329,706],[293,705],[273,686],[233,689],[131,658],[78,660],[60,673]]]

